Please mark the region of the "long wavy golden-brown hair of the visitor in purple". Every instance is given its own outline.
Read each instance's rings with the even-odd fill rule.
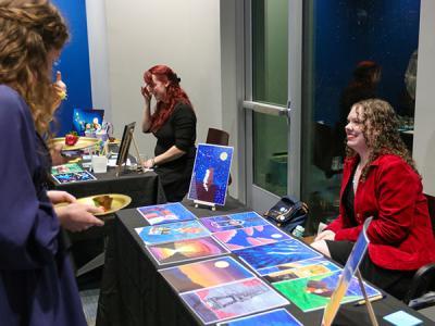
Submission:
[[[2,0],[0,30],[0,83],[24,98],[44,134],[54,102],[48,53],[69,38],[64,20],[48,0]]]

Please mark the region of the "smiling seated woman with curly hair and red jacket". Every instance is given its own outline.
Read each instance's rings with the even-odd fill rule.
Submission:
[[[360,271],[365,279],[402,299],[415,271],[435,262],[421,177],[387,102],[370,99],[356,103],[348,115],[346,136],[339,215],[312,247],[345,264],[365,218],[373,216]]]

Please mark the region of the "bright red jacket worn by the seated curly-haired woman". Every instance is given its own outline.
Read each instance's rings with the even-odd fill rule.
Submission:
[[[435,239],[423,195],[421,177],[402,159],[385,154],[369,166],[355,195],[355,218],[350,225],[343,205],[343,192],[358,159],[345,162],[338,217],[327,226],[335,240],[356,241],[369,216],[369,255],[387,269],[412,271],[435,262]]]

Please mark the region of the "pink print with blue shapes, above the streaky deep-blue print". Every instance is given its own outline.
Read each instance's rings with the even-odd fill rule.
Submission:
[[[215,233],[213,234],[213,237],[221,241],[229,250],[237,250],[291,239],[288,235],[282,233],[270,224]]]

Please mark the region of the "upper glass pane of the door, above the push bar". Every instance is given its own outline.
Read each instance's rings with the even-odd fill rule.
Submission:
[[[287,104],[288,0],[252,1],[252,99]]]

